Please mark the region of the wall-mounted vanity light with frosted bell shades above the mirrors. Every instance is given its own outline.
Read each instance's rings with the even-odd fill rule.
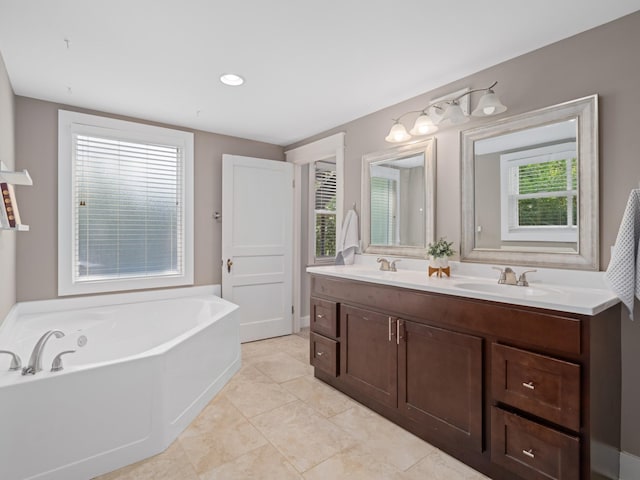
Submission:
[[[474,92],[485,92],[485,94],[480,98],[478,106],[471,115],[474,117],[488,117],[502,113],[507,110],[507,107],[500,102],[500,99],[493,91],[493,87],[497,84],[498,82],[493,82],[490,87],[469,90],[449,100],[432,102],[422,110],[403,113],[398,118],[393,119],[393,125],[391,126],[391,130],[389,130],[389,134],[385,137],[385,140],[390,143],[405,142],[413,136],[418,137],[437,132],[438,125],[460,125],[468,122],[469,117],[460,107],[460,99]],[[420,113],[420,115],[416,118],[413,128],[407,132],[406,127],[400,123],[400,119],[410,113]]]

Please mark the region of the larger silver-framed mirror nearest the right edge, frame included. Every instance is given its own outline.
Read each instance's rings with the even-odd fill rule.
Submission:
[[[461,132],[461,260],[598,270],[597,95]]]

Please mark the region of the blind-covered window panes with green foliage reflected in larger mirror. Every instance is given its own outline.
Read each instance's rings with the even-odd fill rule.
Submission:
[[[575,156],[557,156],[511,167],[510,190],[516,202],[518,226],[577,225],[577,161]]]

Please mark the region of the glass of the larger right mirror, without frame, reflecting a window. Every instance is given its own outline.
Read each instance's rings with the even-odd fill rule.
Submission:
[[[474,148],[476,247],[577,251],[576,120],[479,140]]]

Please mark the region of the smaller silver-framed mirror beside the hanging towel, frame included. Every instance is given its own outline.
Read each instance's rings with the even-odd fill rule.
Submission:
[[[424,258],[434,236],[435,143],[362,157],[364,253]]]

